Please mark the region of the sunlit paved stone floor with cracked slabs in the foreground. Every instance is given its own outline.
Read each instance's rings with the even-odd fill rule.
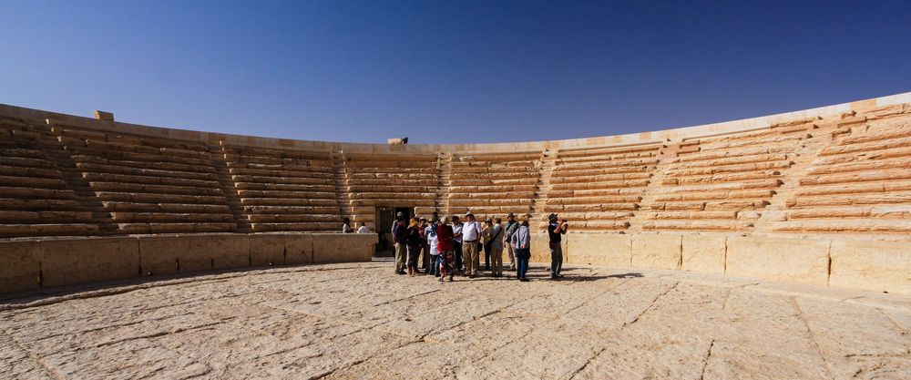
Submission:
[[[120,283],[0,306],[0,379],[909,379],[911,297],[569,267],[389,262]]]

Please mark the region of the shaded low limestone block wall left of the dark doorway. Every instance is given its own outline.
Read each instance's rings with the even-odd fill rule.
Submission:
[[[0,293],[277,265],[369,262],[375,234],[199,233],[0,241]]]

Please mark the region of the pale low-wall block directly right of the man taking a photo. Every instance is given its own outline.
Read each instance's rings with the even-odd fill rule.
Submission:
[[[619,233],[568,234],[567,262],[574,264],[630,266],[630,235]],[[549,257],[548,257],[549,258]]]

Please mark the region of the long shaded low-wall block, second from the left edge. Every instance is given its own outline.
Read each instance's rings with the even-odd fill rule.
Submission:
[[[40,241],[38,248],[46,287],[139,275],[137,238]]]

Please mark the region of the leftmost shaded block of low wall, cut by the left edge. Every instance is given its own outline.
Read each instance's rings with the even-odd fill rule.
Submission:
[[[40,272],[37,241],[0,241],[0,293],[37,289]]]

